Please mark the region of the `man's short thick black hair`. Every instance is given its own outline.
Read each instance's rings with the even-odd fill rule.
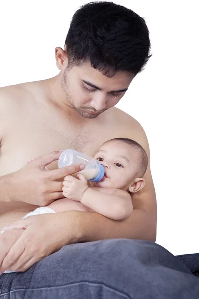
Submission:
[[[88,62],[110,78],[118,71],[136,75],[151,57],[145,20],[113,2],[82,5],[72,17],[64,45],[68,70]]]

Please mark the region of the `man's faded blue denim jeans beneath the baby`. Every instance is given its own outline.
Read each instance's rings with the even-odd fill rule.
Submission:
[[[199,278],[162,246],[71,244],[26,272],[0,275],[0,299],[199,299]]]

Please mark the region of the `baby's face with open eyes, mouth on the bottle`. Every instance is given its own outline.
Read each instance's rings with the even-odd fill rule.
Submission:
[[[100,182],[92,182],[93,187],[128,191],[138,175],[138,150],[123,141],[113,140],[103,144],[94,159],[104,166],[105,178]]]

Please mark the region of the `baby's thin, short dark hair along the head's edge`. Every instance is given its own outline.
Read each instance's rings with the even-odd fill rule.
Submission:
[[[124,137],[117,137],[117,138],[109,139],[106,142],[109,142],[112,140],[121,140],[121,141],[131,145],[133,148],[139,150],[139,153],[140,153],[139,177],[143,177],[143,175],[146,172],[147,167],[148,167],[148,157],[147,157],[146,151],[142,148],[142,146],[139,143],[137,143],[136,141],[134,141],[130,138],[124,138]]]

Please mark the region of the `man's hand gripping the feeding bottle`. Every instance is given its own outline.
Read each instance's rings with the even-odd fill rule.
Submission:
[[[63,183],[57,180],[74,174],[82,169],[81,164],[48,170],[47,165],[59,159],[61,151],[54,151],[35,158],[18,171],[7,176],[10,185],[10,197],[16,201],[45,206],[56,199],[63,198]],[[8,181],[7,181],[8,180]]]

